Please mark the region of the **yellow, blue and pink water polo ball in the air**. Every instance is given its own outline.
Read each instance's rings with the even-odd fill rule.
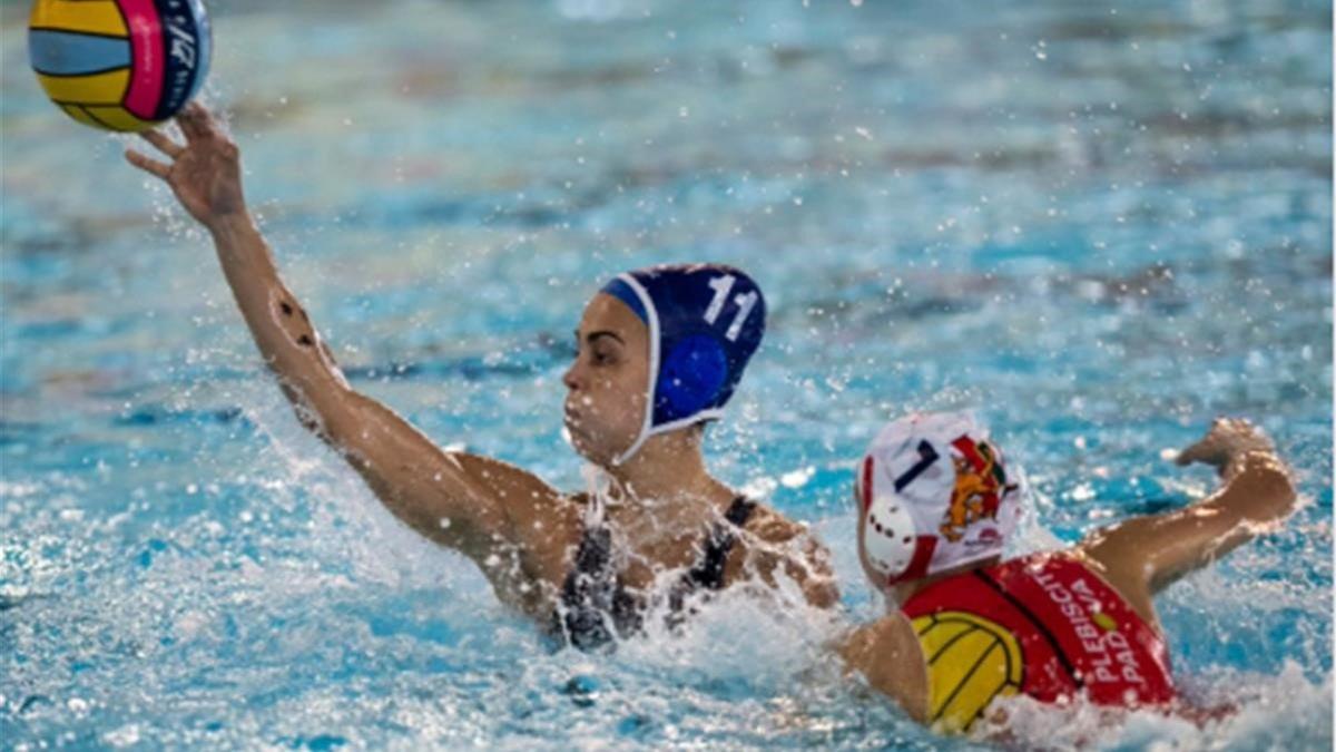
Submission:
[[[67,115],[143,131],[175,115],[208,72],[200,0],[36,0],[28,60]]]

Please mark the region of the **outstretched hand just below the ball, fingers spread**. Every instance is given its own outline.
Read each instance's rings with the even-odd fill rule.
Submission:
[[[143,138],[168,162],[126,150],[126,159],[162,178],[191,217],[207,227],[246,210],[242,195],[240,151],[219,127],[214,115],[199,103],[190,103],[176,116],[186,143],[179,145],[162,131],[144,131]]]

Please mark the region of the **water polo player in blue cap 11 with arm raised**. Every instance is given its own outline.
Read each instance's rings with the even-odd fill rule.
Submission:
[[[827,551],[807,529],[705,468],[703,427],[724,415],[766,331],[751,277],[656,266],[593,296],[562,383],[565,432],[595,471],[589,492],[564,494],[504,462],[445,451],[353,389],[279,278],[246,206],[236,143],[198,103],[176,120],[184,143],[147,131],[162,157],[126,157],[210,231],[298,419],[389,511],[477,563],[501,601],[581,649],[643,632],[655,610],[679,624],[701,597],[741,581],[787,578],[807,603],[835,603]]]

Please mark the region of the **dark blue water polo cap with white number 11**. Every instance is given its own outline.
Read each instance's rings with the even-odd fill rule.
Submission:
[[[651,266],[619,274],[603,290],[649,328],[649,404],[640,436],[723,415],[766,333],[766,298],[756,282],[721,264]]]

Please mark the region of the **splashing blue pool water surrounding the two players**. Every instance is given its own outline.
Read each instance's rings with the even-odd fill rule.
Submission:
[[[1233,717],[1018,708],[1023,745],[1329,749],[1329,5],[943,5],[211,3],[287,280],[438,442],[578,488],[560,373],[601,281],[766,288],[711,462],[816,529],[846,613],[724,598],[611,658],[548,652],[302,432],[208,244],[0,5],[0,747],[935,748],[822,641],[876,610],[854,458],[971,405],[1039,491],[1022,549],[1209,491],[1165,451],[1218,413],[1307,500],[1160,601]]]

